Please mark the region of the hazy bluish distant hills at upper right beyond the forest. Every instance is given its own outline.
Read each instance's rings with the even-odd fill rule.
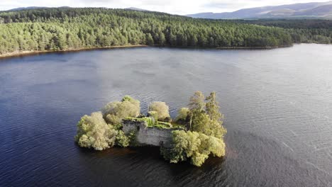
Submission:
[[[192,18],[236,19],[236,18],[332,18],[332,1],[287,4],[281,6],[263,6],[245,8],[224,13],[195,13],[187,15]]]

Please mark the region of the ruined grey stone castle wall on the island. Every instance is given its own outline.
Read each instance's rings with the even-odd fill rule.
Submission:
[[[171,147],[174,129],[148,128],[148,123],[137,120],[123,120],[122,125],[126,135],[137,130],[136,137],[140,145]]]

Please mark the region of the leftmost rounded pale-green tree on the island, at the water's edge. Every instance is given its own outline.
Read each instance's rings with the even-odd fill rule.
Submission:
[[[84,115],[77,124],[75,140],[81,147],[103,150],[113,147],[118,132],[108,125],[101,113]]]

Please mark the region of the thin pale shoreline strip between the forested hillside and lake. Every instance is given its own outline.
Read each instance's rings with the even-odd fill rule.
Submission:
[[[109,47],[87,47],[87,48],[78,48],[78,49],[68,49],[68,50],[43,50],[43,51],[18,51],[11,52],[7,54],[0,55],[0,59],[11,58],[11,57],[23,57],[30,55],[38,55],[51,52],[79,52],[79,51],[88,51],[88,50],[102,50],[102,49],[118,49],[118,48],[133,48],[133,47],[161,47],[157,45],[116,45]],[[170,46],[162,46],[170,47]],[[287,46],[277,46],[277,47],[171,47],[171,48],[187,48],[187,49],[216,49],[216,50],[272,50],[281,47],[292,47],[292,45]]]

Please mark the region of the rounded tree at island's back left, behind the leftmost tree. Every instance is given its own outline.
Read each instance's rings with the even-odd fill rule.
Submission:
[[[125,96],[121,102],[108,103],[101,109],[101,112],[107,123],[119,127],[123,118],[135,118],[140,114],[140,101],[131,98],[131,96]]]

